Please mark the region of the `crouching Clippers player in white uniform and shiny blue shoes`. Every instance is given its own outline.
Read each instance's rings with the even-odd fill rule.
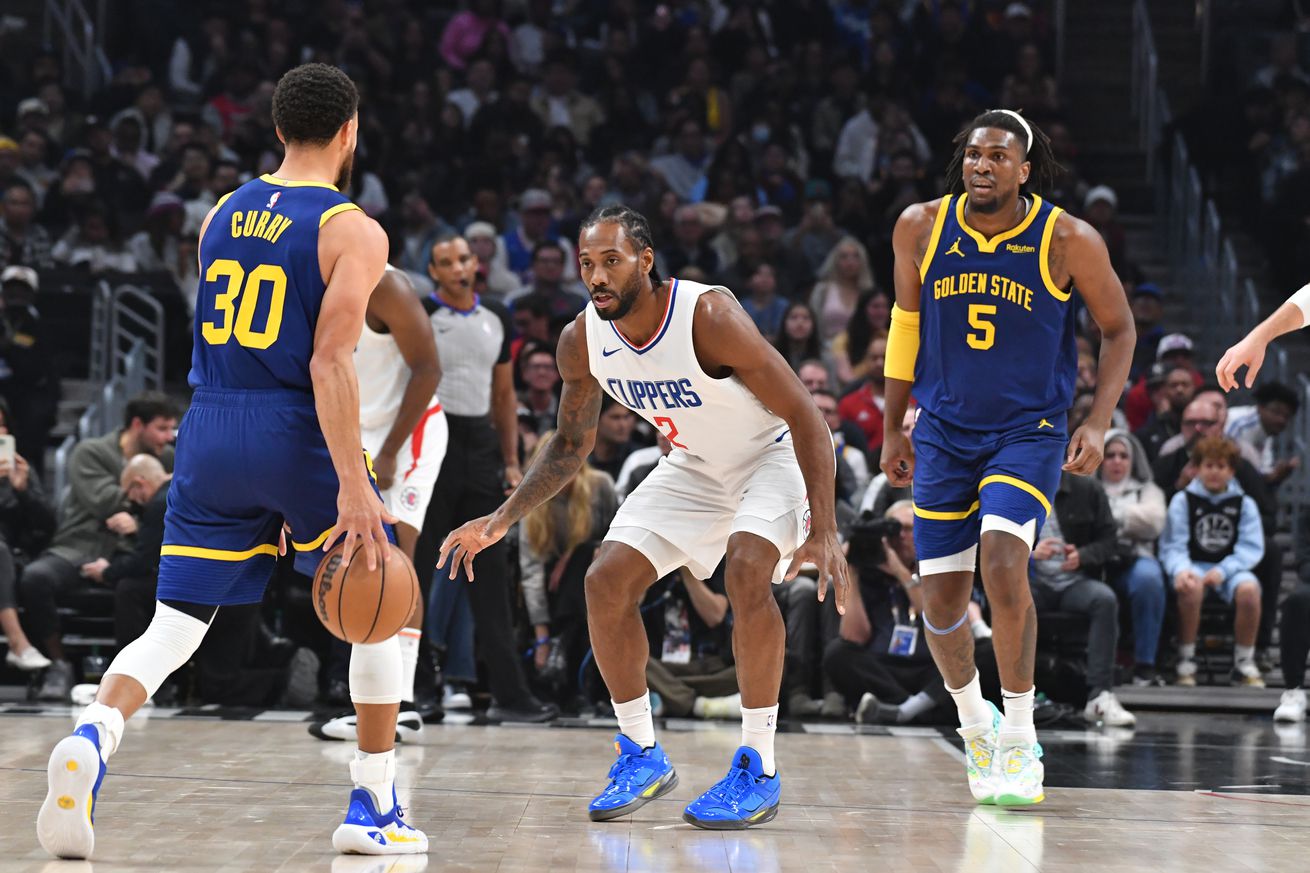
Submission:
[[[782,783],[773,733],[785,629],[770,583],[815,564],[819,598],[831,581],[845,611],[832,435],[727,288],[659,279],[639,214],[592,212],[578,257],[591,304],[559,338],[558,430],[500,509],[445,539],[439,566],[449,557],[453,575],[462,560],[472,581],[473,556],[572,478],[595,442],[603,391],[651,422],[673,451],[620,507],[587,573],[591,642],[620,728],[618,760],[590,815],[627,815],[677,784],[655,742],[638,603],[667,573],[707,578],[727,553],[741,747],[683,818],[714,830],[760,824],[777,815]]]

